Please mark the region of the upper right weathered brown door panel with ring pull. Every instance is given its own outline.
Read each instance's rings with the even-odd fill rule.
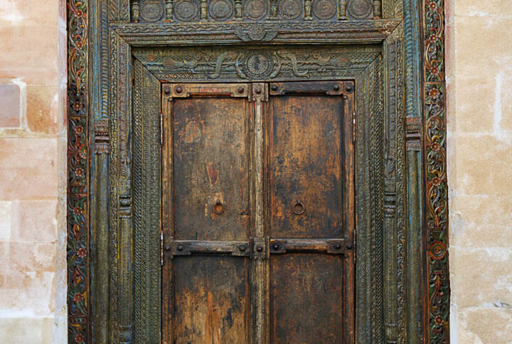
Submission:
[[[283,95],[270,107],[271,236],[341,237],[343,98]]]

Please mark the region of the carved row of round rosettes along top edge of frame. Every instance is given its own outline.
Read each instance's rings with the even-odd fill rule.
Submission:
[[[131,0],[131,12],[135,23],[353,21],[381,18],[382,1]]]

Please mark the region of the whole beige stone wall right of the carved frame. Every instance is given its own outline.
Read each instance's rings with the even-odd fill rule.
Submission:
[[[452,343],[512,343],[512,6],[446,11]]]

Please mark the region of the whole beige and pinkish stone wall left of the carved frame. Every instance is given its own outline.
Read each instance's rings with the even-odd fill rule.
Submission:
[[[66,343],[65,0],[0,0],[0,343]]]

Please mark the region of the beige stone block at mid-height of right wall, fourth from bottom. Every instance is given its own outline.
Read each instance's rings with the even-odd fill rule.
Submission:
[[[449,188],[474,195],[511,194],[512,145],[491,134],[457,134],[450,151]]]

